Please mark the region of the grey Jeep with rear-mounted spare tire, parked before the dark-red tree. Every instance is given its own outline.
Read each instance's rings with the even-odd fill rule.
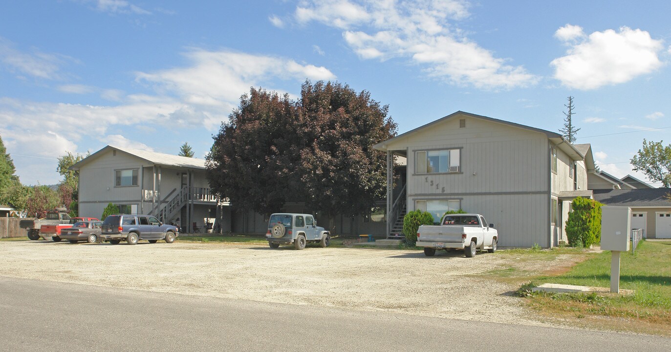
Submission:
[[[278,248],[282,243],[293,243],[295,249],[304,249],[306,243],[319,243],[327,247],[331,234],[317,226],[310,214],[272,214],[268,220],[266,239],[270,248]]]

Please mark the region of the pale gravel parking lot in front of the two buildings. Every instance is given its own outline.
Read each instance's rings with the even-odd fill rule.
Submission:
[[[527,317],[517,287],[476,274],[510,256],[463,252],[164,242],[71,245],[0,242],[0,276],[114,288],[517,324]],[[539,270],[557,263],[525,263]],[[44,294],[48,294],[45,292]]]

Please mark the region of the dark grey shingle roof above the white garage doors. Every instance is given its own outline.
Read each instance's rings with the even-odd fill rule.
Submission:
[[[666,195],[669,188],[650,189],[595,189],[594,199],[607,206],[651,206],[671,207],[671,200]]]

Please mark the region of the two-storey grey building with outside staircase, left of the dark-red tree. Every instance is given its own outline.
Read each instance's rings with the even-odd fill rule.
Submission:
[[[205,160],[119,146],[105,146],[70,167],[79,171],[79,214],[100,218],[107,204],[121,213],[149,214],[183,230],[230,219],[205,177]],[[230,222],[221,222],[223,231]]]

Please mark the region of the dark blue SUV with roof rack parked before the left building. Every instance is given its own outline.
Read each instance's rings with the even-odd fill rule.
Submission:
[[[105,218],[101,232],[101,240],[107,240],[112,245],[118,245],[125,240],[129,245],[136,245],[138,240],[148,240],[156,243],[165,240],[173,243],[179,236],[176,226],[163,224],[151,215],[115,214]]]

